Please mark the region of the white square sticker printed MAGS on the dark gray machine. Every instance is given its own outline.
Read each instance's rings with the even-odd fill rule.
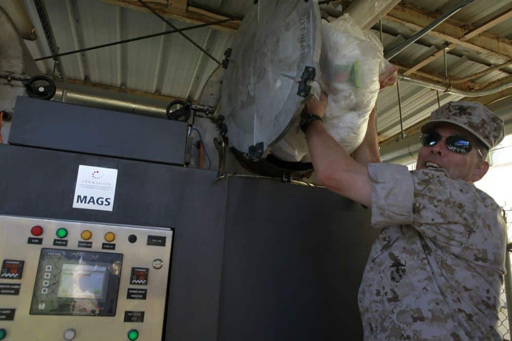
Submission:
[[[80,165],[73,207],[112,211],[116,182],[117,169]]]

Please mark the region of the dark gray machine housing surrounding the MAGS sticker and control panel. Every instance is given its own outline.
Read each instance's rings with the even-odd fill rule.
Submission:
[[[39,112],[51,120],[59,107],[67,110],[41,101]],[[80,109],[77,127],[94,112]],[[135,140],[119,149],[90,144],[84,153],[59,134],[65,124],[52,127],[51,148],[68,151],[48,150],[45,136],[34,140],[16,127],[40,117],[15,115],[14,140],[30,147],[0,145],[0,214],[174,229],[164,340],[362,339],[357,292],[378,234],[368,210],[323,188],[216,181],[214,171],[134,160],[126,150]],[[142,140],[163,123],[181,127],[145,119]],[[97,139],[111,138],[118,124]],[[160,153],[173,148],[158,146]],[[79,165],[118,170],[112,212],[72,208]]]

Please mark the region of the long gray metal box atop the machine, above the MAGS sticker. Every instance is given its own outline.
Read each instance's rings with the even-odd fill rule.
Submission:
[[[187,123],[17,97],[11,145],[182,165]]]

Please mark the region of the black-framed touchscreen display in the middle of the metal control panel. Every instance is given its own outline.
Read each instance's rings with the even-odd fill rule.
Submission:
[[[115,316],[121,254],[43,248],[32,315]]]

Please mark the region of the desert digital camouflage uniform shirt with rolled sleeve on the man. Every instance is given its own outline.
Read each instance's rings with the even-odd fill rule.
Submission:
[[[490,196],[440,170],[370,164],[382,228],[359,288],[365,340],[501,340],[505,222]]]

